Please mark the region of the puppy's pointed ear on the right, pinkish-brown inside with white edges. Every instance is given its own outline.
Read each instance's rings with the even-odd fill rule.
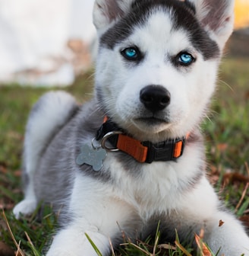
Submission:
[[[235,0],[192,0],[200,24],[223,49],[232,34]]]

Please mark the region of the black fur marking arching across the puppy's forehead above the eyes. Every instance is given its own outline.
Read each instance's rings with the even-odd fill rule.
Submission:
[[[113,49],[117,43],[121,43],[133,33],[134,27],[142,27],[143,24],[146,24],[147,18],[150,17],[155,10],[171,13],[173,23],[172,30],[186,31],[189,34],[189,39],[194,48],[203,54],[204,59],[219,57],[219,46],[200,26],[195,16],[194,5],[188,1],[136,1],[131,7],[131,11],[124,15],[123,18],[102,35],[100,45]]]

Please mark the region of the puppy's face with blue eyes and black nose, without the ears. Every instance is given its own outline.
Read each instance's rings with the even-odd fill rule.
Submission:
[[[170,8],[143,15],[124,18],[100,40],[99,104],[137,139],[184,136],[213,94],[219,47],[191,11],[183,19]]]

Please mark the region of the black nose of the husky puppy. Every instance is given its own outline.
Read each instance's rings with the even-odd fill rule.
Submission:
[[[140,91],[140,101],[153,113],[163,110],[170,103],[170,93],[161,85],[148,85]]]

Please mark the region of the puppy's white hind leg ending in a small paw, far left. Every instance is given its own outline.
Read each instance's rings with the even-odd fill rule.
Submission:
[[[27,215],[36,209],[33,176],[39,165],[39,159],[56,131],[66,123],[76,108],[74,98],[63,91],[49,92],[34,105],[24,139],[24,200],[13,210],[17,218],[20,217],[20,213]]]

